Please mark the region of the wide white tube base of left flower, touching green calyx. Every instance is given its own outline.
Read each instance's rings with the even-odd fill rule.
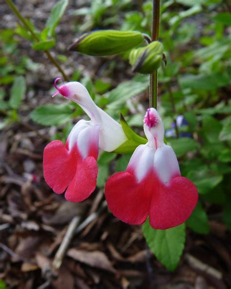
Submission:
[[[99,147],[105,151],[113,151],[118,146],[127,141],[122,126],[118,124],[110,115],[97,107],[100,115]]]

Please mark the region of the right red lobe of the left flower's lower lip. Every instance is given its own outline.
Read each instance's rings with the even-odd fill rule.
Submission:
[[[81,202],[88,198],[96,188],[98,174],[94,157],[88,157],[77,164],[76,174],[68,186],[65,198],[70,202]]]

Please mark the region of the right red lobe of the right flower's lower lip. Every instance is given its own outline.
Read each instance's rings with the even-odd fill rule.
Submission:
[[[174,178],[168,186],[159,183],[150,206],[150,225],[168,229],[184,223],[197,204],[196,186],[184,177]]]

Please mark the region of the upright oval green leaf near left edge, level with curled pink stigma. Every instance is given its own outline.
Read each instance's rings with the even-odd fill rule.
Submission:
[[[12,108],[19,108],[26,92],[26,81],[23,76],[17,76],[10,90],[9,104]]]

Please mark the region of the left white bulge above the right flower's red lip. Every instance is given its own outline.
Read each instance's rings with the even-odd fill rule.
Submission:
[[[154,168],[154,149],[146,145],[139,145],[128,164],[127,171],[134,173],[137,182],[140,182],[151,169]]]

